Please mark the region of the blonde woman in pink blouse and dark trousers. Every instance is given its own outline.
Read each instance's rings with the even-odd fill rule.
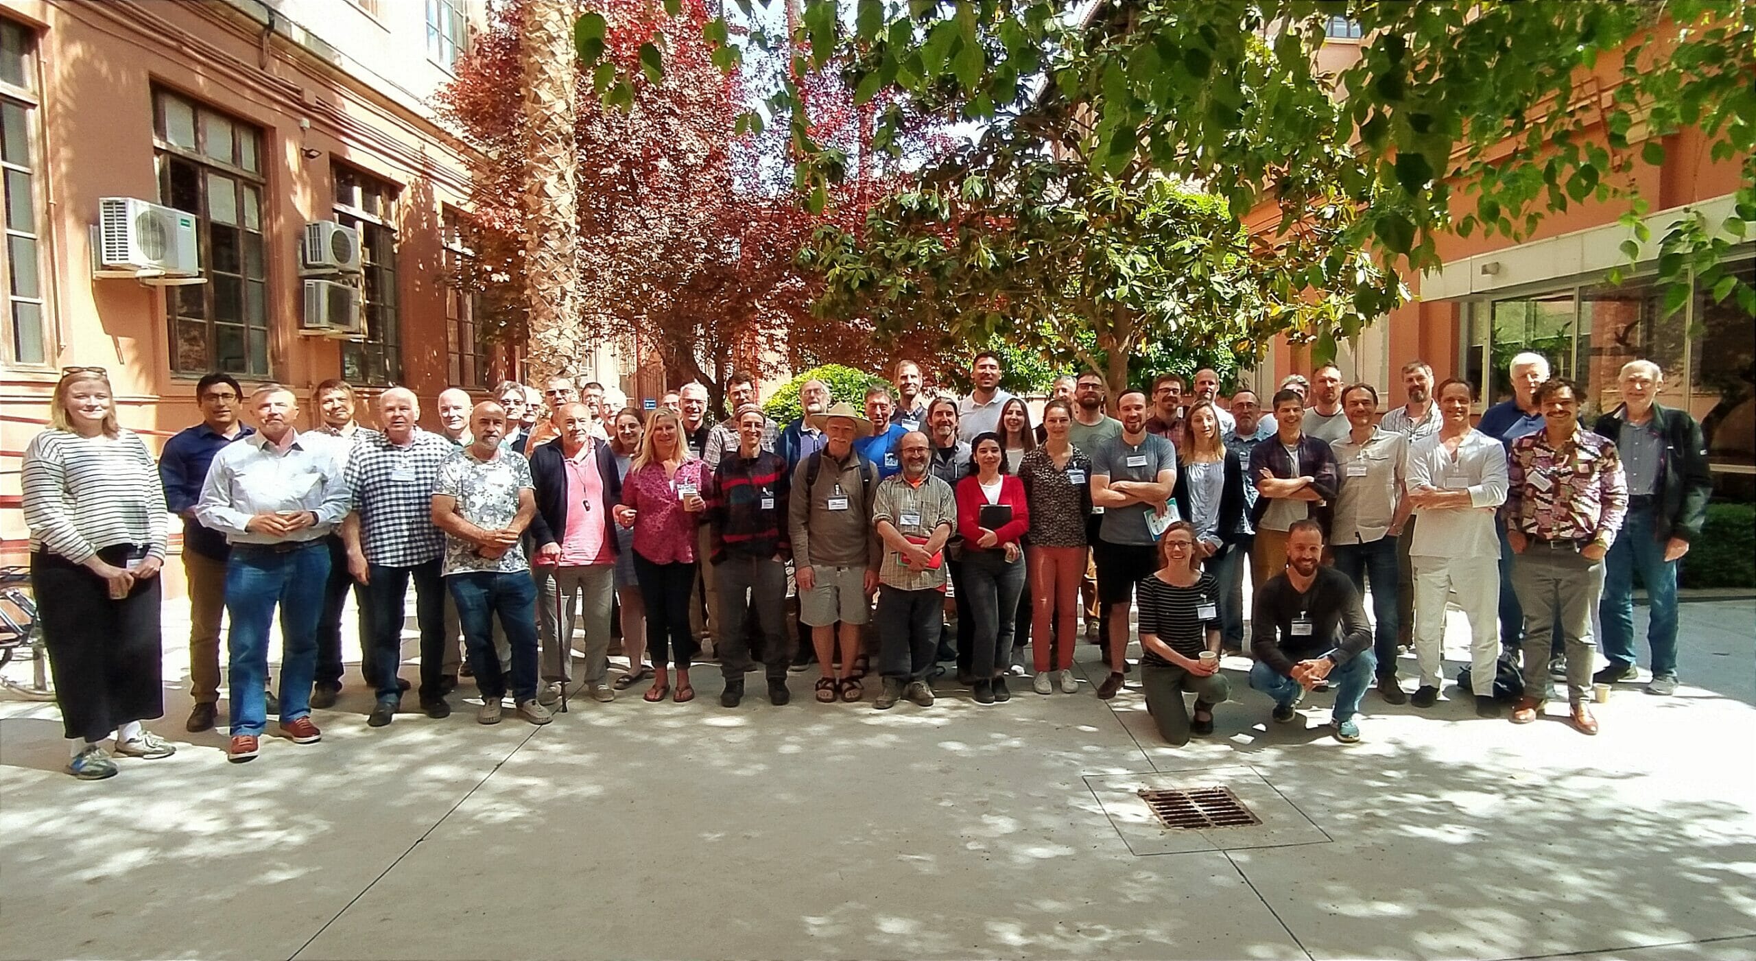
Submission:
[[[688,455],[676,411],[655,411],[616,508],[616,524],[634,529],[634,576],[646,599],[646,652],[655,675],[646,701],[664,701],[671,692],[667,648],[676,655],[673,699],[695,699],[688,683],[688,661],[697,650],[688,599],[695,587],[695,524],[706,508],[701,483],[702,462]]]

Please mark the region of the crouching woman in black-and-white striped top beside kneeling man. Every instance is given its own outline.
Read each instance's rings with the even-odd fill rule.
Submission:
[[[1159,538],[1157,573],[1140,582],[1140,685],[1159,736],[1175,747],[1213,733],[1213,708],[1231,696],[1219,673],[1219,582],[1196,564],[1196,529],[1178,520]],[[1184,692],[1196,696],[1194,720]]]

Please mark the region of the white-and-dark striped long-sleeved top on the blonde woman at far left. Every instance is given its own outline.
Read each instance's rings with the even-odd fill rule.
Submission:
[[[165,559],[165,488],[140,436],[81,437],[49,429],[25,450],[30,550],[83,564],[102,548],[142,545]]]

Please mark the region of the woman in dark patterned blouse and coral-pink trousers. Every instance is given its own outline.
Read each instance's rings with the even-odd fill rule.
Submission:
[[[1075,694],[1080,682],[1073,678],[1075,625],[1080,615],[1080,582],[1085,578],[1085,515],[1090,513],[1092,462],[1068,439],[1073,425],[1073,408],[1066,401],[1043,404],[1043,446],[1024,455],[1018,476],[1024,480],[1026,501],[1031,504],[1029,546],[1024,548],[1031,567],[1031,661],[1036,678],[1031,687],[1038,694],[1054,694],[1061,671],[1061,690]],[[1055,641],[1059,639],[1059,648]],[[1050,657],[1054,652],[1054,657]]]

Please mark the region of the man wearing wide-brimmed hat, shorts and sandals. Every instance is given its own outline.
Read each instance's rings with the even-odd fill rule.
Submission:
[[[811,627],[811,647],[822,678],[822,703],[859,701],[864,689],[853,675],[860,652],[860,625],[878,587],[878,541],[871,532],[873,488],[878,471],[853,450],[855,437],[873,423],[846,402],[810,418],[824,432],[824,450],[799,460],[792,474],[788,527],[794,576],[799,583],[799,620]],[[836,669],[836,624],[841,666]]]

